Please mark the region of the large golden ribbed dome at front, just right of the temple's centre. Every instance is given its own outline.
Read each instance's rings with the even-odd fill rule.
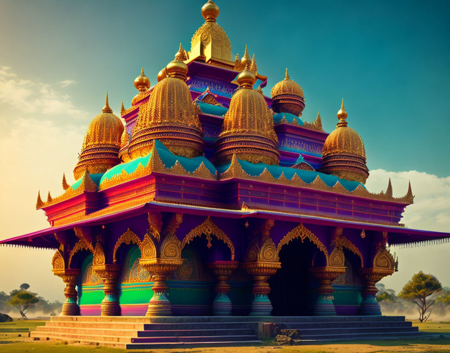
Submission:
[[[247,64],[238,76],[239,88],[231,99],[216,141],[215,156],[220,162],[229,162],[237,154],[239,159],[253,163],[278,163],[273,114],[264,96],[253,89],[255,82],[256,76]]]

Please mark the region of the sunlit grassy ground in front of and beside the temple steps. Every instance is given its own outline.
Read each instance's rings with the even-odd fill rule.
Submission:
[[[32,341],[29,332],[45,321],[27,320],[0,323],[1,353],[123,353],[133,352],[118,348],[88,344],[68,344],[67,341]],[[153,349],[154,353],[450,353],[450,322],[413,322],[423,332],[440,333],[431,338],[410,340],[348,341],[304,346],[280,347],[267,342],[267,345],[246,347]],[[143,350],[141,350],[143,351]],[[148,352],[149,350],[147,350]]]

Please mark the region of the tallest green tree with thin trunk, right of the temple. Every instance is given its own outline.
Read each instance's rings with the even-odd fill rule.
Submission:
[[[405,284],[398,296],[416,303],[419,307],[419,320],[420,322],[424,322],[430,317],[431,311],[429,311],[429,308],[434,304],[434,300],[429,300],[427,303],[426,297],[441,288],[442,286],[436,277],[420,271],[412,276],[411,280]],[[428,315],[426,314],[427,311],[429,311]]]

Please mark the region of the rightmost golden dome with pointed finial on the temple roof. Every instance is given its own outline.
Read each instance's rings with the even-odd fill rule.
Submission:
[[[366,149],[358,132],[347,126],[347,116],[343,99],[341,109],[337,112],[339,122],[323,144],[322,165],[318,170],[343,179],[365,183],[369,176]]]

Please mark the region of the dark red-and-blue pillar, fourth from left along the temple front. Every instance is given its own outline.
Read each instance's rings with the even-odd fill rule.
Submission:
[[[232,303],[228,296],[231,290],[227,282],[228,277],[238,268],[237,261],[216,261],[208,264],[217,277],[217,284],[214,288],[216,295],[212,302],[212,313],[219,316],[228,316],[232,312]]]

